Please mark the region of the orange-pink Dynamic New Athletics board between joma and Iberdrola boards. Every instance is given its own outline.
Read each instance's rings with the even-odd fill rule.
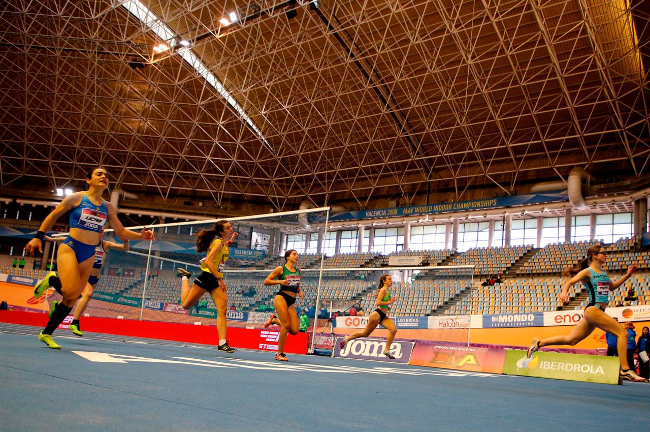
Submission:
[[[501,373],[505,360],[505,349],[459,347],[440,343],[426,344],[418,342],[413,348],[409,364],[428,366],[430,368]]]

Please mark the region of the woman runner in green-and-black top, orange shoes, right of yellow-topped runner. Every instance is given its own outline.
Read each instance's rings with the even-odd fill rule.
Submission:
[[[264,328],[271,324],[277,324],[282,329],[278,339],[278,353],[276,360],[281,362],[289,361],[285,355],[284,345],[287,342],[287,334],[298,334],[300,331],[300,320],[296,313],[296,297],[300,295],[302,299],[305,294],[300,290],[300,269],[298,264],[298,252],[289,249],[285,252],[285,264],[276,267],[270,275],[264,280],[267,286],[279,285],[280,290],[273,299],[276,313],[266,321]],[[276,316],[277,314],[277,316]]]

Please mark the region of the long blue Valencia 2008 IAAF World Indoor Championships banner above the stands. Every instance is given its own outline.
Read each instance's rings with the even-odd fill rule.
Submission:
[[[481,200],[459,202],[440,202],[438,204],[426,204],[423,206],[348,211],[346,213],[339,213],[338,215],[330,216],[330,221],[348,221],[358,219],[378,219],[384,217],[426,215],[432,213],[450,213],[452,211],[482,210],[568,200],[569,196],[565,193],[500,196],[499,198],[487,198]]]

